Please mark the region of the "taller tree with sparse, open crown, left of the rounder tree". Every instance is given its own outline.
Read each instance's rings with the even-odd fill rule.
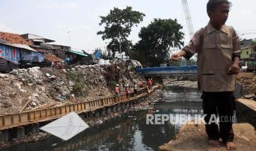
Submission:
[[[105,30],[99,31],[97,34],[101,34],[103,40],[111,40],[107,49],[112,51],[113,57],[115,57],[115,52],[118,51],[125,52],[126,55],[130,56],[132,42],[127,38],[132,31],[132,27],[143,21],[144,16],[145,14],[132,10],[132,7],[126,7],[125,9],[113,8],[107,16],[100,16],[101,22],[99,25],[105,25]]]

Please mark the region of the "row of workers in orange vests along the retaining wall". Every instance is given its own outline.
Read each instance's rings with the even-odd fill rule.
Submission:
[[[144,84],[146,84],[146,86],[144,86]],[[139,84],[137,83],[134,83],[133,84],[133,97],[137,96],[137,91],[138,91],[138,85],[139,85],[139,88],[142,89],[142,88],[146,88],[146,90],[148,90],[148,92],[150,91],[150,89],[152,89],[152,85],[153,85],[153,80],[152,79],[148,79],[147,82],[140,82]],[[128,99],[130,97],[130,92],[132,92],[132,89],[130,88],[130,85],[127,84],[125,87],[124,87],[124,92],[126,92],[126,98]],[[117,84],[116,85],[116,88],[115,88],[115,96],[116,96],[116,102],[119,101],[119,95],[121,93],[121,89],[119,88],[119,85]]]

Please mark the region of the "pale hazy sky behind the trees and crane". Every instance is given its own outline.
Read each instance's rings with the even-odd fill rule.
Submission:
[[[208,24],[208,1],[187,1],[194,31],[197,31]],[[231,2],[226,24],[238,32],[256,33],[256,1]],[[139,40],[140,28],[148,26],[154,18],[177,19],[186,34],[184,42],[189,42],[181,0],[0,0],[0,31],[36,34],[56,40],[55,44],[70,45],[75,50],[105,49],[107,41],[96,34],[104,30],[104,26],[99,25],[99,16],[106,16],[114,7],[124,9],[126,6],[146,15],[137,27],[132,28],[129,39],[133,43]],[[255,38],[256,34],[240,36],[248,39]]]

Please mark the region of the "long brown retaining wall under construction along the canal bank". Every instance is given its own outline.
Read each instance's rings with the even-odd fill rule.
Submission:
[[[150,92],[157,88],[158,86],[155,86]],[[118,98],[115,96],[107,96],[58,107],[0,115],[0,141],[5,142],[12,138],[23,137],[26,132],[39,132],[39,127],[42,124],[46,124],[70,112],[76,112],[81,118],[85,118],[90,117],[90,113],[93,111],[97,111],[96,116],[120,111],[121,109],[130,107],[133,100],[137,100],[146,94],[148,94],[146,89],[139,89],[137,94],[130,92],[129,96],[120,94]]]

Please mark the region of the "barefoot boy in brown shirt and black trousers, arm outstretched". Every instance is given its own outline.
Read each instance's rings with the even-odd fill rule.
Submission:
[[[225,25],[230,6],[231,2],[227,0],[209,0],[208,25],[197,31],[190,43],[173,54],[171,60],[176,61],[181,56],[189,59],[198,53],[198,87],[203,92],[201,97],[209,144],[220,147],[221,138],[227,150],[234,150],[233,91],[239,71],[240,43],[233,27]],[[217,113],[220,116],[220,131],[217,124],[209,124],[211,115]],[[228,120],[224,121],[225,118]]]

